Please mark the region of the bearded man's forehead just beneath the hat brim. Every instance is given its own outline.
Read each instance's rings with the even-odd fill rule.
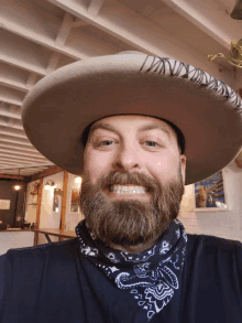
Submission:
[[[136,131],[158,129],[166,133],[170,139],[176,138],[176,131],[167,122],[147,116],[122,115],[112,116],[98,120],[90,128],[90,133],[97,129],[122,131],[133,129]]]

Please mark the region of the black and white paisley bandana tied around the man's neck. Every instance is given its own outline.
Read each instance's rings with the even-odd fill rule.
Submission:
[[[116,283],[129,290],[147,314],[147,321],[162,311],[174,295],[179,295],[187,235],[175,219],[156,239],[155,245],[140,254],[128,254],[107,247],[91,237],[85,220],[76,227],[80,252]]]

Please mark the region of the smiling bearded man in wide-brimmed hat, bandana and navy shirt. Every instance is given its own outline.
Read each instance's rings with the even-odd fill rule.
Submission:
[[[82,175],[85,220],[74,240],[0,257],[0,322],[241,321],[241,243],[186,235],[177,220],[184,185],[241,149],[229,86],[120,53],[41,80],[22,120],[36,149]]]

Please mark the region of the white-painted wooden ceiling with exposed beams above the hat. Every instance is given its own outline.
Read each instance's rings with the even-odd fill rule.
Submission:
[[[0,173],[30,176],[53,163],[31,144],[21,122],[28,91],[53,71],[121,51],[176,58],[231,87],[242,73],[226,60],[242,22],[235,0],[0,0]],[[19,170],[20,169],[20,170]],[[1,176],[1,175],[0,175]]]

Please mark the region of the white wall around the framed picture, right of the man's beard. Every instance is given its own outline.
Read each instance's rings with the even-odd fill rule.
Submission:
[[[194,185],[186,186],[179,220],[187,233],[242,241],[242,170],[231,162],[223,170],[231,211],[196,212]]]

